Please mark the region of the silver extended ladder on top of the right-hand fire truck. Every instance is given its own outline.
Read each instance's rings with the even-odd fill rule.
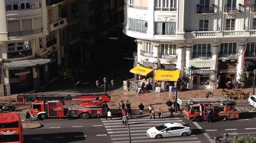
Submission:
[[[179,105],[184,104],[221,104],[223,101],[233,101],[230,98],[178,98],[177,103]]]

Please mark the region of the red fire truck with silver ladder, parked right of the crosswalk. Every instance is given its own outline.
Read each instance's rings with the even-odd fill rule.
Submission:
[[[184,106],[184,117],[196,122],[207,120],[206,111],[211,111],[212,120],[238,119],[239,112],[235,109],[235,102],[229,98],[186,98],[177,99],[179,105]]]

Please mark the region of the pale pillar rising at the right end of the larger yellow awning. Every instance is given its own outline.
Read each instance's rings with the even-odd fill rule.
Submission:
[[[179,74],[180,77],[183,77],[183,71],[184,71],[184,69],[183,69],[183,66],[184,66],[184,63],[183,63],[184,62],[184,60],[183,60],[183,56],[184,56],[183,51],[184,51],[184,45],[177,45],[176,52],[178,54],[178,58],[177,58],[177,65],[176,65],[176,67],[177,67],[177,69],[180,70],[180,74]]]

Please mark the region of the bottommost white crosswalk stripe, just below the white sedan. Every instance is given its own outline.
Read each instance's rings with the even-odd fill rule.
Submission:
[[[132,143],[143,143],[143,142],[153,142],[153,141],[181,141],[181,140],[197,140],[198,138],[160,138],[160,139],[150,139],[150,140],[132,140]],[[190,142],[190,141],[189,141]],[[113,143],[129,143],[129,141],[113,141]],[[179,142],[178,142],[179,143]]]

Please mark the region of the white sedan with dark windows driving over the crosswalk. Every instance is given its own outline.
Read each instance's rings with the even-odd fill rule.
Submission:
[[[151,138],[162,138],[168,136],[187,136],[191,134],[190,126],[178,122],[166,123],[147,130],[147,136]]]

